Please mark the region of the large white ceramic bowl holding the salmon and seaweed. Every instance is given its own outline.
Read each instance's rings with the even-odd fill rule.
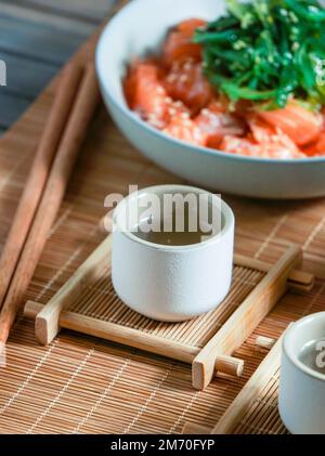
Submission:
[[[155,130],[128,108],[121,88],[128,63],[158,50],[168,28],[180,21],[211,21],[224,11],[224,0],[133,0],[125,6],[104,28],[96,50],[100,86],[113,119],[145,156],[202,186],[261,198],[325,195],[325,157],[278,160],[197,147]]]

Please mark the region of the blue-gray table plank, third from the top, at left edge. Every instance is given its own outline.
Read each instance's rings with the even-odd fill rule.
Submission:
[[[6,87],[2,90],[27,100],[34,100],[58,69],[57,65],[5,52],[0,52],[0,58],[6,64]]]

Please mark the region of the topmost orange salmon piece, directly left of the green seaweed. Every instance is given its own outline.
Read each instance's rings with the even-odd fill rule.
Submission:
[[[200,61],[202,47],[193,42],[193,35],[196,28],[205,25],[205,21],[192,18],[180,23],[178,27],[172,29],[164,44],[164,63],[170,66],[174,61],[187,57]]]

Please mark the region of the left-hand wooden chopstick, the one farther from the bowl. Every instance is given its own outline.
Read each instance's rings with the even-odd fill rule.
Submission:
[[[60,79],[57,95],[36,151],[24,192],[0,257],[0,309],[40,201],[81,75],[81,67],[68,64]]]

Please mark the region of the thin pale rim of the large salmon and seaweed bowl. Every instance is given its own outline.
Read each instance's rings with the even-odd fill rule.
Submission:
[[[223,0],[222,0],[223,1]],[[122,103],[119,100],[114,96],[114,94],[110,92],[108,83],[106,79],[102,75],[102,66],[104,65],[104,56],[105,56],[105,43],[107,38],[109,38],[109,35],[112,34],[112,30],[114,30],[114,27],[117,27],[117,25],[123,21],[123,17],[129,14],[131,10],[136,9],[141,3],[145,3],[147,0],[133,0],[132,2],[126,4],[122,6],[122,9],[115,14],[113,18],[108,21],[108,23],[103,28],[99,41],[96,43],[95,49],[95,69],[96,75],[100,81],[100,84],[102,87],[102,90],[105,91],[105,94],[109,97],[109,101],[114,106],[121,110],[125,116],[128,117],[129,120],[135,122],[140,129],[143,128],[147,133],[155,135],[159,140],[165,140],[170,144],[177,144],[185,147],[186,149],[191,151],[191,153],[197,153],[200,152],[207,156],[217,156],[220,159],[231,159],[235,161],[245,161],[247,164],[273,164],[273,165],[297,165],[297,166],[304,166],[308,164],[325,164],[325,154],[324,156],[316,156],[316,157],[306,157],[306,158],[268,158],[268,157],[253,157],[253,156],[246,156],[240,154],[230,154],[225,153],[219,149],[212,149],[205,146],[196,146],[190,143],[186,143],[185,141],[178,140],[176,138],[169,136],[166,133],[162,133],[160,130],[155,129],[152,127],[148,122],[141,119],[141,117],[136,116],[134,112],[132,112],[128,106],[127,103]],[[154,0],[151,0],[151,3],[153,3]],[[120,81],[119,81],[120,82]]]

